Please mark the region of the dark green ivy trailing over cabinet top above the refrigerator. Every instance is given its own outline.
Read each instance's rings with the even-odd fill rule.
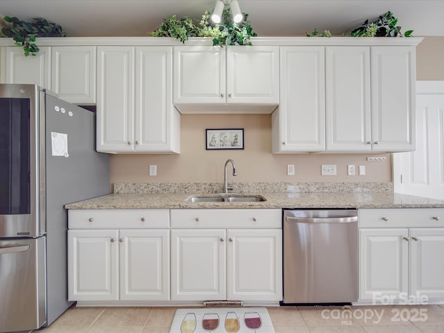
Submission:
[[[35,22],[26,22],[17,17],[5,16],[3,19],[10,23],[1,29],[5,37],[12,37],[17,46],[23,46],[25,56],[35,56],[39,47],[35,44],[36,37],[65,37],[66,33],[58,24],[48,22],[43,18],[34,18]]]

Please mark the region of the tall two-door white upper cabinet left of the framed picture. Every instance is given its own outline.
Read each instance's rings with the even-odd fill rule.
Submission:
[[[100,46],[98,53],[97,150],[179,153],[172,46]]]

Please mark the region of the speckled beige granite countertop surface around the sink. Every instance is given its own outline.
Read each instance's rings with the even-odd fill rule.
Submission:
[[[266,201],[254,203],[189,203],[191,193],[114,193],[66,205],[72,210],[190,208],[444,208],[444,200],[393,191],[257,192]],[[201,195],[201,193],[200,193]]]

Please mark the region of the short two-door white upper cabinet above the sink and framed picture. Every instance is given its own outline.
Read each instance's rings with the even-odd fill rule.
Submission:
[[[175,46],[173,77],[173,103],[181,112],[199,112],[182,105],[278,105],[279,47]]]

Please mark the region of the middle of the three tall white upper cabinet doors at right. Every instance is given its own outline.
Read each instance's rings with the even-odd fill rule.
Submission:
[[[370,47],[325,50],[327,151],[370,151]]]

